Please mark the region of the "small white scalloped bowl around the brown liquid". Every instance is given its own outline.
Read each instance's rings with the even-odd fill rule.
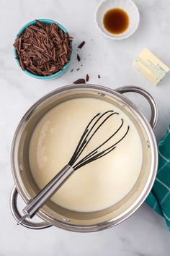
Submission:
[[[109,33],[103,25],[104,14],[113,8],[120,8],[127,12],[129,16],[129,27],[125,32],[121,34],[112,34]],[[140,15],[138,12],[138,7],[132,0],[104,0],[97,7],[97,12],[95,14],[95,21],[100,32],[105,35],[107,38],[121,40],[130,37],[133,35],[135,30],[137,30],[139,25]]]

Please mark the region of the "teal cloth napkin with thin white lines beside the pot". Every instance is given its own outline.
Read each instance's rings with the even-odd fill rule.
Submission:
[[[158,143],[158,172],[146,202],[165,218],[170,231],[170,124]]]

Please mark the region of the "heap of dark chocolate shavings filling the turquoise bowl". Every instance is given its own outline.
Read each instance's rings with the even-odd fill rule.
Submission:
[[[61,28],[36,20],[19,35],[14,43],[17,59],[22,69],[33,74],[47,76],[54,74],[71,58],[73,38]]]

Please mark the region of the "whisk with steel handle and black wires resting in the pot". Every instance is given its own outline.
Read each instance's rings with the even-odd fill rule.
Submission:
[[[66,182],[69,176],[73,174],[74,171],[81,168],[82,166],[85,166],[88,163],[91,163],[92,161],[95,161],[99,158],[102,158],[104,155],[107,155],[109,152],[114,150],[118,143],[120,143],[125,136],[128,134],[129,126],[126,129],[125,134],[120,137],[117,142],[115,142],[113,145],[109,146],[107,145],[107,142],[109,142],[112,137],[114,137],[122,128],[124,121],[121,119],[120,127],[118,127],[115,132],[108,137],[107,140],[102,142],[97,148],[94,150],[91,150],[90,153],[88,153],[86,156],[80,159],[81,154],[84,152],[84,149],[91,141],[92,137],[97,133],[100,127],[111,117],[114,115],[118,115],[119,113],[114,112],[112,110],[104,112],[104,114],[97,114],[94,116],[89,124],[87,125],[86,129],[84,130],[83,135],[81,136],[81,139],[79,140],[79,143],[76,147],[76,150],[74,151],[71,160],[68,162],[66,166],[64,166],[61,171],[58,172],[54,176],[54,178],[34,197],[34,199],[23,209],[24,216],[20,218],[17,224],[22,223],[25,218],[32,218],[35,216],[35,213],[37,213],[37,210],[42,208],[42,206],[47,202],[50,197],[53,196],[53,194],[61,187],[61,185]],[[104,148],[106,147],[106,148]],[[103,149],[102,149],[103,148]]]

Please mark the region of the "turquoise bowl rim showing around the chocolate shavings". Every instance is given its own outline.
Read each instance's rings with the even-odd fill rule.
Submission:
[[[61,24],[59,24],[58,22],[55,22],[54,20],[48,20],[48,19],[37,19],[37,20],[40,20],[41,22],[44,22],[46,24],[51,24],[51,23],[55,23],[57,24],[59,27],[61,27],[61,29],[63,30],[64,33],[68,33],[66,28],[64,28]],[[26,29],[26,27],[29,27],[30,25],[35,25],[35,20],[32,20],[31,22],[28,22],[26,25],[24,25],[18,32],[17,35],[21,35],[24,30]],[[17,38],[16,38],[17,40]],[[71,47],[73,47],[71,45]],[[72,51],[73,51],[73,48],[72,48]],[[71,51],[71,56],[72,56],[72,51]],[[14,48],[14,57],[17,61],[17,64],[19,65],[19,61],[17,59],[17,51],[16,51],[16,48]],[[66,63],[63,67],[63,69],[61,69],[60,71],[54,73],[54,74],[50,74],[50,75],[47,75],[47,76],[41,76],[41,75],[37,75],[37,74],[32,74],[31,72],[29,72],[27,69],[24,69],[23,71],[30,75],[30,77],[34,77],[34,78],[37,78],[37,79],[41,79],[41,80],[50,80],[50,79],[53,79],[53,78],[58,78],[58,77],[61,77],[62,74],[64,74],[66,72],[66,70],[68,69],[68,67],[70,66],[70,61],[71,61],[71,58],[70,60],[68,61],[68,63]],[[20,65],[19,65],[20,67]],[[20,67],[21,68],[21,67]]]

